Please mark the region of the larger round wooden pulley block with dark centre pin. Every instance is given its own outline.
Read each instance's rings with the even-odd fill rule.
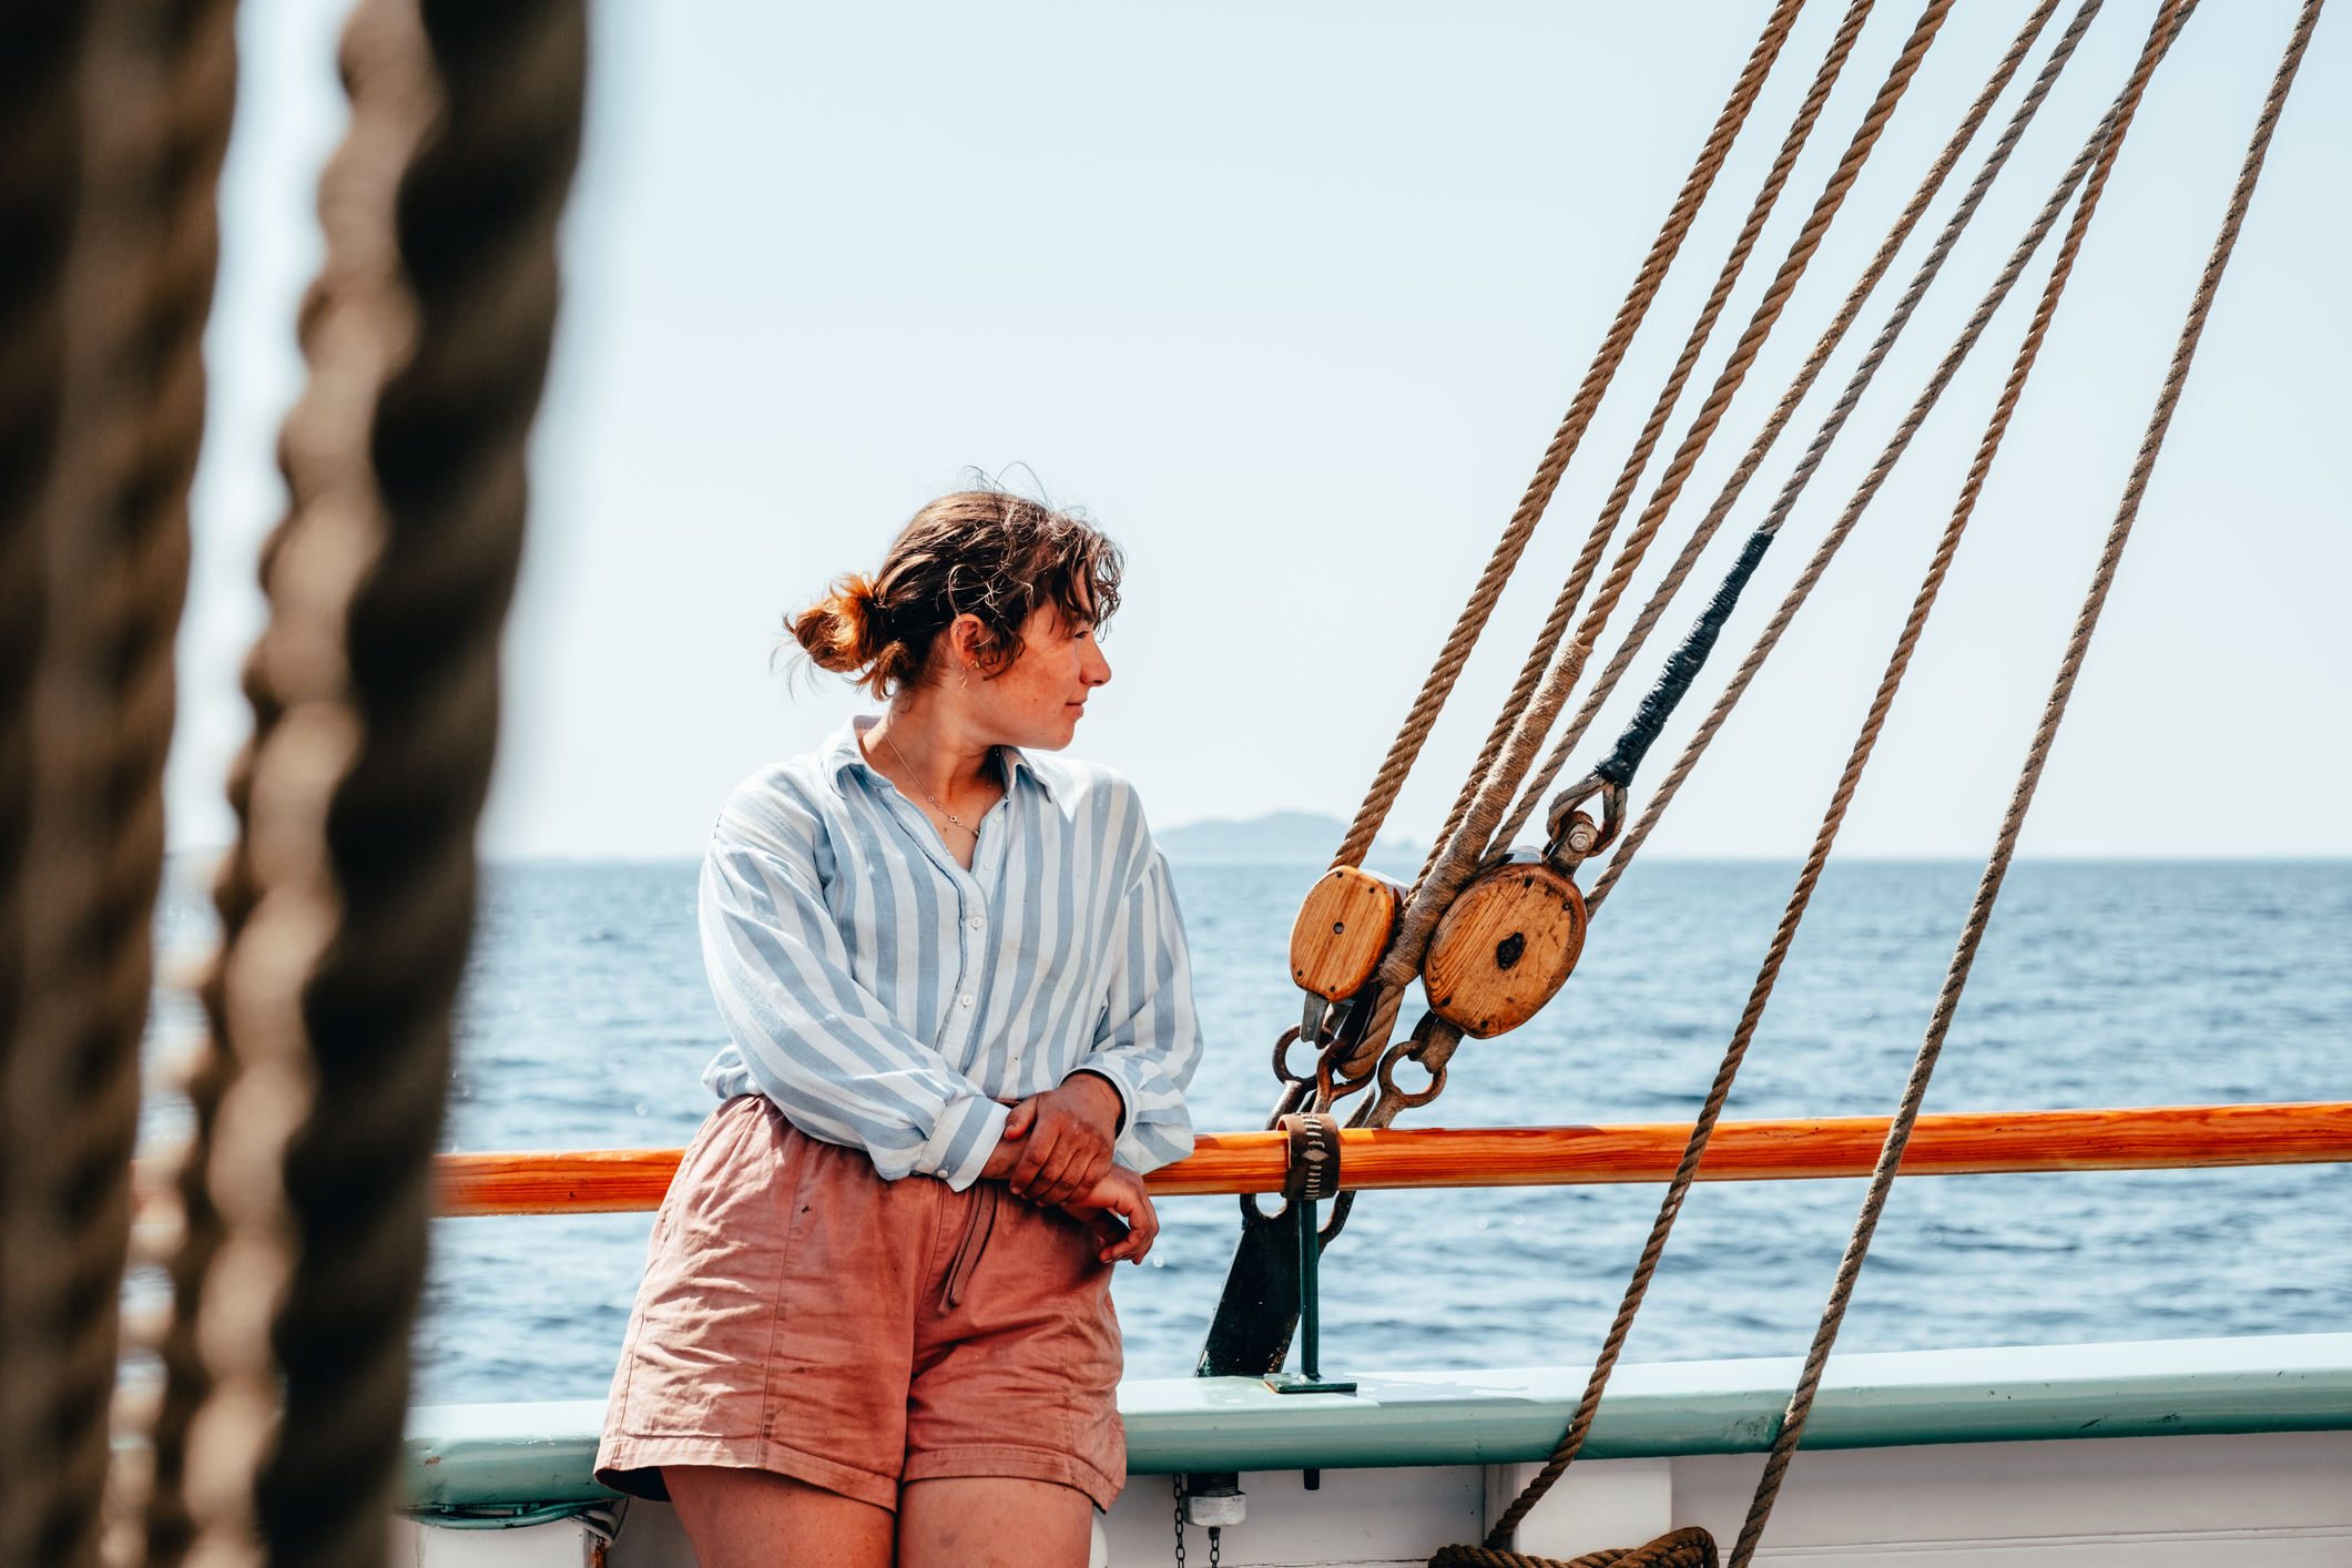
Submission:
[[[1437,922],[1421,983],[1430,1011],[1475,1039],[1534,1018],[1585,950],[1585,896],[1534,849],[1470,879]]]

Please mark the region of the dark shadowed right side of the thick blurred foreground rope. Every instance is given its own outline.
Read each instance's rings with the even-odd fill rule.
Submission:
[[[445,110],[397,197],[416,341],[367,435],[383,538],[343,625],[358,731],[322,823],[341,919],[301,994],[318,1110],[287,1147],[301,1265],[275,1324],[282,1432],[256,1488],[273,1561],[301,1568],[381,1563],[395,1502],[586,87],[581,0],[426,0],[421,16]]]

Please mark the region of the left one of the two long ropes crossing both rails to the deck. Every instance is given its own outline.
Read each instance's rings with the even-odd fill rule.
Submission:
[[[2154,61],[2161,59],[2169,35],[2176,31],[2178,16],[2159,16],[2157,28],[2150,33],[2147,49],[2143,52],[2143,66],[2152,71]],[[2145,87],[2145,71],[2136,68],[2126,94]],[[1771,950],[1757,973],[1757,980],[1748,994],[1748,1004],[1740,1011],[1740,1020],[1731,1034],[1731,1044],[1724,1048],[1724,1058],[1715,1070],[1715,1081],[1708,1086],[1708,1098],[1698,1110],[1691,1126],[1689,1143],[1684,1145],[1682,1164],[1675,1171],[1675,1180],[1668,1185],[1665,1199],[1658,1204],[1658,1218],[1651,1225],[1649,1239],[1642,1246],[1642,1255],[1635,1262],[1632,1279],[1625,1286],[1625,1295],[1618,1302],[1616,1319],[1609,1324],[1609,1333],[1602,1340],[1602,1352],[1595,1359],[1592,1378],[1585,1385],[1585,1394],[1576,1406],[1576,1418],[1569,1422],[1566,1434],[1552,1450],[1550,1462],[1529,1481],[1519,1500],[1496,1521],[1489,1533],[1489,1544],[1505,1544],[1517,1530],[1526,1512],[1543,1500],[1543,1495],[1559,1481],[1559,1476],[1576,1460],[1583,1448],[1585,1436],[1592,1429],[1592,1420],[1599,1415],[1599,1401],[1616,1371],[1618,1356],[1625,1349],[1625,1338],[1632,1331],[1635,1316],[1649,1295],[1649,1284],[1656,1276],[1658,1260],[1665,1255],[1668,1237],[1675,1229],[1675,1220],[1691,1192],[1691,1182],[1698,1178],[1698,1166],[1705,1159],[1708,1143],[1715,1133],[1715,1124],[1724,1112],[1724,1103],[1731,1098],[1733,1079],[1748,1058],[1748,1046],[1755,1041],[1757,1025],[1764,1020],[1764,1009],[1771,1001],[1773,985],[1780,976],[1780,966],[1788,959],[1790,945],[1797,938],[1797,926],[1804,919],[1806,907],[1820,872],[1830,860],[1830,849],[1837,842],[1837,832],[1846,820],[1846,806],[1853,799],[1853,790],[1860,783],[1863,769],[1870,764],[1870,755],[1877,745],[1879,731],[1886,724],[1886,715],[1893,708],[1896,691],[1903,684],[1903,675],[1910,668],[1912,649],[1919,642],[1926,618],[1936,607],[1936,597],[1943,588],[1945,571],[1959,550],[1959,538],[1976,512],[1976,501],[1983,494],[1985,475],[1992,470],[1992,461],[2002,449],[2002,440],[2009,433],[2011,414],[2016,411],[2018,397],[2025,393],[2025,381],[2030,378],[2034,362],[2039,360],[2044,336],[2058,310],[2058,301],[2065,294],[2067,280],[2072,277],[2074,256],[2082,252],[2084,235],[2089,233],[2091,219],[2098,209],[2098,193],[2105,183],[2105,172],[2114,165],[2122,150],[2124,129],[2129,127],[2129,113],[2114,125],[2114,134],[2105,139],[2100,162],[2091,174],[2091,183],[2084,188],[2082,202],[2074,207],[2074,219],[2067,226],[2067,235],[2058,249],[2051,266],[2051,277],[2042,292],[2042,303],[2027,324],[2025,339],[2018,346],[2016,360],[2009,369],[2009,381],[2002,388],[2002,397],[1994,402],[1992,416],[1987,421],[1985,435],[1978,442],[1976,458],[1969,465],[1969,475],[1962,484],[1959,501],[1952,508],[1952,520],[1938,541],[1936,555],[1929,562],[1926,581],[1912,599],[1910,616],[1905,618],[1903,632],[1896,639],[1893,656],[1889,658],[1886,675],[1863,717],[1860,733],[1846,757],[1846,766],[1837,780],[1837,790],[1830,797],[1830,806],[1823,816],[1820,830],[1813,837],[1813,849],[1806,856],[1804,870],[1797,875],[1797,886],[1780,912],[1780,924],[1773,931]]]

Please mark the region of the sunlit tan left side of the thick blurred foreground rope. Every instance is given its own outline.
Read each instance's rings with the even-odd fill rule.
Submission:
[[[148,1563],[285,1561],[254,1500],[280,1422],[273,1319],[299,1251],[282,1157],[315,1093],[303,992],[343,905],[325,825],[362,745],[343,642],[386,534],[369,430],[414,341],[393,200],[437,110],[402,0],[353,12],[341,68],[350,129],[320,176],[327,254],[301,315],[310,378],[280,435],[292,505],[261,557],[270,621],[245,665],[254,736],[230,778],[238,846],[202,987],[212,1037],[191,1088],[198,1135],[181,1175],[188,1237],[172,1267]]]

